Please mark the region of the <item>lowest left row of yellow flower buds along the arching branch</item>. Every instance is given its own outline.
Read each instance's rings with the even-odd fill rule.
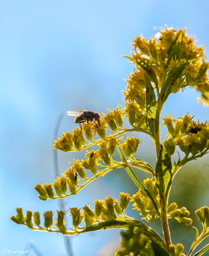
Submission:
[[[79,229],[79,224],[82,220],[85,221],[86,227],[90,227],[93,224],[100,223],[101,221],[110,221],[110,220],[116,220],[118,213],[119,215],[122,215],[124,213],[124,210],[128,207],[130,196],[128,193],[120,193],[120,203],[118,203],[117,199],[113,199],[111,197],[105,198],[105,200],[95,200],[93,202],[94,204],[94,210],[91,210],[89,206],[85,205],[83,206],[83,211],[75,208],[69,208],[69,212],[72,216],[72,222],[74,226],[74,231]],[[64,222],[66,212],[63,211],[57,211],[58,218],[54,222],[55,227],[59,229],[59,232],[66,234],[66,227]],[[18,224],[24,224],[27,225],[31,229],[38,229],[37,227],[34,227],[34,224],[32,223],[32,217],[34,224],[40,228],[40,215],[38,212],[32,213],[32,211],[27,211],[26,216],[24,217],[22,208],[17,208],[17,215],[12,216],[11,220]],[[53,224],[53,212],[48,211],[44,213],[44,226],[46,230],[52,230],[52,224]],[[44,230],[43,228],[40,228],[41,230]],[[73,230],[73,229],[72,229]],[[53,230],[55,231],[55,230]]]

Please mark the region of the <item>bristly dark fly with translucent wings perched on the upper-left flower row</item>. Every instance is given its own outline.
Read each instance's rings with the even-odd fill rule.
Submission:
[[[81,123],[84,123],[84,122],[87,121],[87,123],[89,124],[89,121],[91,121],[91,122],[93,121],[94,123],[95,123],[95,121],[97,121],[100,125],[100,116],[99,116],[98,113],[95,113],[93,111],[89,111],[89,110],[86,110],[86,109],[83,109],[83,110],[69,110],[69,111],[67,111],[66,115],[75,116],[74,121],[76,123],[80,124],[80,134],[81,134],[81,131],[82,131]],[[94,125],[94,124],[92,124],[92,125]],[[96,123],[95,123],[94,126],[97,128]],[[79,134],[79,136],[80,136],[80,134]]]

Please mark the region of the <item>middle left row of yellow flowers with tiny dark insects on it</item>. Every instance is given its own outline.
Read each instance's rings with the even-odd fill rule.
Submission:
[[[34,188],[39,193],[39,198],[42,200],[46,200],[47,198],[55,199],[54,190],[59,198],[62,198],[63,195],[68,195],[67,188],[69,188],[71,194],[77,194],[77,189],[79,188],[78,175],[82,179],[80,182],[84,182],[86,180],[86,170],[90,170],[90,172],[95,176],[98,173],[98,167],[104,165],[106,168],[113,168],[111,166],[112,155],[115,152],[115,147],[120,144],[120,140],[123,137],[117,139],[113,135],[110,135],[107,138],[107,141],[100,141],[97,145],[100,149],[87,150],[85,154],[85,159],[75,160],[70,163],[71,167],[64,172],[64,176],[66,177],[57,177],[57,179],[53,182],[53,184],[37,184]],[[135,138],[127,138],[127,141],[124,141],[124,144],[128,144],[129,150],[131,150],[131,154],[133,155],[136,152],[139,140]],[[127,150],[126,150],[127,151]],[[101,160],[103,163],[101,163]],[[86,169],[86,170],[85,170]],[[54,188],[54,190],[53,190]],[[69,195],[68,195],[69,196]]]

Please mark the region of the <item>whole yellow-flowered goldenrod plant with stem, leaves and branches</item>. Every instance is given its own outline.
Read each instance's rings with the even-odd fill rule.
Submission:
[[[41,200],[76,196],[95,179],[114,169],[125,168],[138,190],[133,195],[121,192],[120,200],[112,198],[107,191],[107,198],[95,198],[93,206],[85,205],[82,209],[70,207],[65,212],[46,211],[43,213],[44,223],[40,221],[40,213],[28,210],[24,215],[21,207],[11,219],[32,230],[65,236],[100,229],[125,229],[121,232],[121,250],[115,252],[117,256],[184,256],[183,244],[172,244],[168,219],[186,226],[192,224],[192,219],[184,206],[169,201],[169,194],[180,168],[209,152],[209,124],[200,123],[188,112],[182,117],[173,117],[161,111],[171,93],[183,91],[187,86],[199,91],[199,102],[209,105],[209,63],[205,62],[203,49],[197,47],[193,38],[182,29],[161,28],[149,41],[142,35],[137,36],[132,45],[132,56],[123,56],[134,65],[123,91],[124,105],[118,104],[115,109],[108,109],[107,114],[100,114],[100,122],[96,121],[96,125],[91,122],[80,124],[82,130],[79,127],[73,132],[68,131],[55,140],[54,150],[83,151],[84,157],[69,163],[69,169],[54,182],[39,183],[34,188]],[[128,119],[128,127],[124,127],[124,119]],[[160,137],[161,126],[168,130],[164,141]],[[130,135],[133,131],[139,136],[124,138],[127,132]],[[140,133],[149,135],[153,141],[155,167],[138,157]],[[92,146],[98,149],[94,150]],[[119,152],[121,161],[116,160],[115,151]],[[175,151],[178,154],[174,154]],[[149,173],[152,178],[140,181],[134,173],[136,169]],[[139,212],[143,221],[125,213],[129,205]],[[200,256],[209,249],[208,243],[194,253],[196,246],[209,236],[208,206],[195,212],[203,230],[199,234],[194,227],[196,236],[187,256]],[[72,227],[66,226],[69,216],[72,217]],[[163,237],[144,224],[157,219],[161,221]]]

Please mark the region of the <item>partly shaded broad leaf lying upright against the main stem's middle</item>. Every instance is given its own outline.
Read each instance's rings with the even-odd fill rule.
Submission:
[[[171,158],[167,153],[165,147],[161,145],[160,154],[156,164],[156,185],[158,191],[163,197],[165,202],[167,202],[169,191],[171,188],[172,175],[171,175]]]

